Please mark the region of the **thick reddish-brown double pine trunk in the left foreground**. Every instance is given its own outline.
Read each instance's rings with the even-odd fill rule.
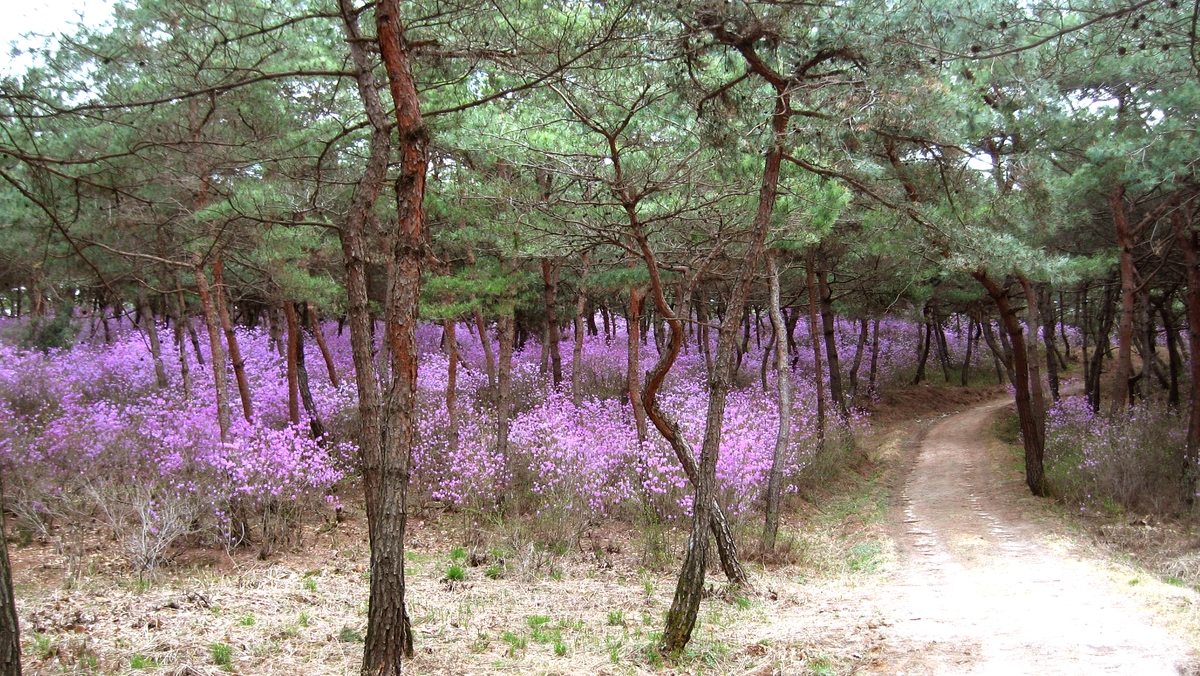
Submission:
[[[391,354],[394,382],[384,389],[373,359],[373,318],[367,294],[367,235],[373,207],[383,190],[391,154],[392,125],[372,76],[372,64],[359,31],[353,0],[340,0],[342,25],[354,64],[359,97],[371,125],[370,154],[354,193],[347,223],[341,228],[346,265],[347,318],[359,393],[359,462],[366,498],[371,545],[371,590],[362,676],[400,676],[404,657],[413,654],[413,633],[404,609],[404,530],[408,521],[408,478],[415,430],[415,311],[424,263],[425,232],[421,198],[425,190],[424,124],[408,68],[396,0],[376,7],[376,32],[396,109],[401,139],[396,179],[397,223],[390,239],[384,345]],[[386,233],[380,233],[386,234]],[[384,397],[383,393],[388,396]]]

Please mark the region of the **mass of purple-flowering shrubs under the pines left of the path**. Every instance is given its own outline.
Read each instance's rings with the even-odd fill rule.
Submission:
[[[334,323],[324,333],[343,373],[340,385],[330,382],[312,341],[307,359],[326,436],[311,438],[306,420],[289,424],[283,359],[265,330],[239,328],[254,418],[241,418],[238,390],[230,382],[234,420],[224,442],[216,424],[205,345],[200,347],[203,365],[191,342],[185,348],[192,381],[186,396],[170,331],[160,328],[169,385],[157,389],[144,336],[127,322],[109,319],[107,333],[92,323],[92,330],[77,331],[78,342],[70,349],[36,352],[0,343],[0,415],[11,420],[0,429],[0,466],[6,479],[12,477],[7,497],[23,527],[47,536],[55,524],[100,516],[121,540],[131,564],[144,569],[161,562],[172,543],[185,534],[236,543],[253,533],[269,551],[288,538],[305,510],[320,508],[326,498],[337,499],[334,493],[355,456],[356,394],[349,336]],[[497,449],[496,393],[485,372],[481,342],[488,340],[496,353],[496,336],[480,336],[473,329],[463,324],[457,331],[462,364],[454,431],[446,409],[449,363],[440,347],[442,329],[426,324],[418,330],[420,411],[413,499],[434,498],[486,512],[509,497],[522,510],[577,525],[598,516],[654,514],[670,520],[689,513],[692,491],[671,448],[653,426],[644,443],[637,441],[624,393],[623,327],[611,339],[586,335],[577,366],[566,331],[562,343],[565,381],[558,388],[541,372],[541,346],[535,339],[516,351],[515,406],[504,455]],[[919,329],[901,321],[881,323],[880,387],[911,377],[918,358],[912,339]],[[7,330],[13,333],[11,327]],[[796,335],[794,403],[788,413],[792,438],[784,468],[793,483],[812,462],[816,448],[812,349],[803,319]],[[836,340],[847,372],[857,337],[858,324],[839,322]],[[952,353],[960,352],[965,334],[949,330],[947,340]],[[762,346],[764,339],[751,342],[743,358],[743,387],[730,394],[722,429],[719,499],[734,518],[757,507],[775,445],[774,375],[768,371],[766,391],[758,382],[762,359],[768,357]],[[859,369],[864,390],[869,349],[870,345]],[[983,363],[985,348],[976,354]],[[643,343],[641,371],[656,359],[649,340]],[[576,367],[583,382],[578,405],[569,385]],[[706,369],[703,353],[689,345],[661,391],[664,409],[678,420],[697,453],[708,401]],[[857,418],[852,423],[859,424]]]

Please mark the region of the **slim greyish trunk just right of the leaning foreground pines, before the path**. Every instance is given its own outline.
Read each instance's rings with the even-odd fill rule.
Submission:
[[[775,453],[770,459],[770,472],[767,475],[767,514],[762,526],[761,549],[762,551],[775,550],[775,538],[779,534],[779,502],[784,492],[784,462],[786,461],[787,447],[792,438],[792,379],[787,366],[787,339],[784,336],[784,313],[780,311],[779,300],[779,267],[775,264],[774,252],[767,256],[767,275],[770,280],[770,322],[775,328],[775,393],[779,409],[779,426],[775,430]],[[866,319],[863,319],[863,335],[866,333]],[[858,355],[862,357],[863,340],[858,342]],[[851,387],[856,382],[854,373],[858,372],[858,359],[854,360],[854,369],[851,371]]]

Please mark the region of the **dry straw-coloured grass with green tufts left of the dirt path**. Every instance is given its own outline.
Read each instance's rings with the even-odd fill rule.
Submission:
[[[781,532],[788,563],[750,564],[755,593],[728,591],[713,573],[694,640],[673,660],[655,645],[682,531],[658,533],[672,544],[652,569],[647,548],[661,542],[648,544],[628,524],[593,528],[574,549],[553,552],[535,548],[532,536],[526,549],[520,524],[466,533],[455,515],[426,515],[410,531],[410,668],[446,675],[850,668],[870,659],[874,645],[874,618],[854,598],[888,556],[877,489],[856,474],[822,496],[820,509],[803,505]],[[110,551],[118,545],[98,538],[76,581],[53,548],[16,548],[26,672],[353,674],[366,630],[362,526],[359,514],[336,528],[310,528],[301,550],[270,562],[252,552],[186,552],[154,582],[122,570]],[[474,549],[455,552],[466,540]],[[455,563],[464,568],[462,581],[446,579]]]

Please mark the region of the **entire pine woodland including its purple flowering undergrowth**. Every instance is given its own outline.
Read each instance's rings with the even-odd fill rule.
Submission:
[[[360,483],[364,674],[424,501],[690,521],[682,650],[904,382],[1010,383],[1034,495],[1188,512],[1196,12],[120,5],[0,82],[6,509],[152,570]]]

